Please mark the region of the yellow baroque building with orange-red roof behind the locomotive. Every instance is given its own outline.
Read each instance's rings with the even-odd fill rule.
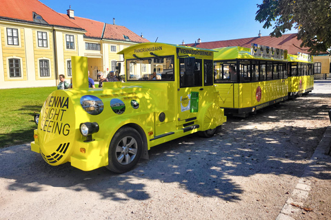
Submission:
[[[37,0],[1,0],[0,89],[51,87],[70,82],[71,56],[87,56],[90,77],[114,70],[117,52],[149,42],[121,25],[54,12]]]

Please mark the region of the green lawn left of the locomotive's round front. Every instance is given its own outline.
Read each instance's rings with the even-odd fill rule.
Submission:
[[[33,117],[57,87],[0,89],[0,148],[33,141]]]

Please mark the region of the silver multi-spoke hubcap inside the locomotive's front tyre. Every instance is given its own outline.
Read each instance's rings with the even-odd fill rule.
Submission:
[[[137,141],[130,136],[123,137],[116,146],[116,158],[120,164],[130,164],[137,155],[138,144]]]

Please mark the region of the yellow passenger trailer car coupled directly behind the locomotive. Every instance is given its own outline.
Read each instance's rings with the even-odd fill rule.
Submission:
[[[255,44],[215,50],[214,83],[225,114],[246,117],[288,99],[286,51]]]

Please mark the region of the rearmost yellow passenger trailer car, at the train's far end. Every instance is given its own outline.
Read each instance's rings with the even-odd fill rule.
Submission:
[[[312,59],[309,54],[288,54],[288,97],[290,99],[307,95],[314,89]]]

